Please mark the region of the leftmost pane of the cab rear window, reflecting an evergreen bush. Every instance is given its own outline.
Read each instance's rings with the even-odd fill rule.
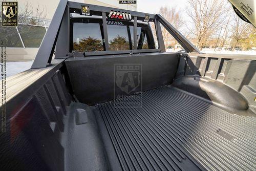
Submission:
[[[74,23],[73,49],[78,52],[104,51],[100,23]]]

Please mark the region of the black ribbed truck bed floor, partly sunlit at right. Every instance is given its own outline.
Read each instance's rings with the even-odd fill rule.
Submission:
[[[133,100],[98,106],[124,170],[256,170],[255,117],[175,88],[144,92],[139,108],[119,106]]]

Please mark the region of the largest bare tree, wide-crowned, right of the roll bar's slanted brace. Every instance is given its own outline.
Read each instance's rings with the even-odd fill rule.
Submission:
[[[227,1],[223,0],[188,0],[186,10],[191,18],[192,28],[188,28],[197,38],[196,46],[202,50],[207,39],[222,26],[227,15]]]

